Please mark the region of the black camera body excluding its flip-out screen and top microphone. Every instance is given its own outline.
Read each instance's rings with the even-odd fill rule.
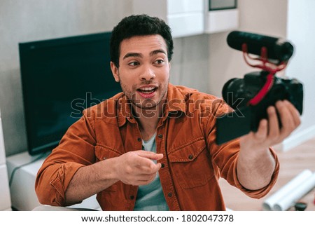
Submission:
[[[244,107],[251,109],[251,130],[257,131],[262,118],[267,118],[267,107],[278,100],[290,101],[297,111],[302,114],[303,86],[297,79],[281,79],[274,76],[274,84],[267,95],[255,106],[248,106],[256,93],[265,84],[267,71],[255,71],[244,76],[244,79],[230,79],[223,86],[222,95],[225,102],[235,110],[244,111]],[[230,94],[229,94],[230,93]],[[237,101],[241,100],[241,101]]]

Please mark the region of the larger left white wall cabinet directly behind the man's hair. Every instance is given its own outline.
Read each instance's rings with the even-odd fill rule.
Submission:
[[[133,0],[132,7],[165,20],[174,38],[204,33],[204,0]]]

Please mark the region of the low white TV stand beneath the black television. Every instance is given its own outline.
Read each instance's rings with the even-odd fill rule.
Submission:
[[[41,203],[38,202],[34,186],[36,174],[45,158],[34,161],[36,158],[38,158],[38,156],[30,156],[27,151],[6,158],[9,179],[11,178],[13,170],[21,166],[21,168],[15,171],[10,185],[11,201],[14,210],[30,211],[41,205]],[[101,210],[99,203],[97,203],[96,196],[91,196],[83,200],[82,203],[72,205],[71,207]]]

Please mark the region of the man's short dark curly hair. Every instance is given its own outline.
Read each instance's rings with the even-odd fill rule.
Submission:
[[[121,20],[113,28],[111,34],[111,62],[119,67],[120,43],[132,36],[146,36],[160,34],[167,43],[167,55],[169,61],[173,55],[173,39],[169,26],[160,18],[148,15],[130,15]]]

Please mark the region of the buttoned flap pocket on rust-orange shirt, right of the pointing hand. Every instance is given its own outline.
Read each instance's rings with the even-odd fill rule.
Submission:
[[[204,186],[214,177],[210,154],[202,137],[171,152],[169,165],[174,181],[182,189]]]

